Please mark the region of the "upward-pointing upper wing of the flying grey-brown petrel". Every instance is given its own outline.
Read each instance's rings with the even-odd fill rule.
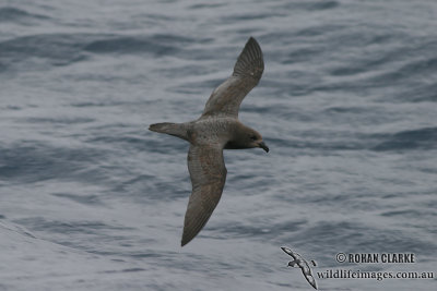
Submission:
[[[262,51],[250,37],[238,57],[234,73],[214,89],[201,118],[238,117],[239,105],[245,96],[257,86],[264,71]]]

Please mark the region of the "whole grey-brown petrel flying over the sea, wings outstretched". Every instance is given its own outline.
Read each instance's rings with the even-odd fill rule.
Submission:
[[[149,128],[190,143],[188,170],[192,192],[185,215],[181,246],[200,232],[222,196],[227,173],[223,149],[260,147],[269,151],[261,134],[238,120],[239,105],[257,86],[263,70],[261,48],[250,37],[233,74],[213,90],[199,119],[185,123],[155,123]]]

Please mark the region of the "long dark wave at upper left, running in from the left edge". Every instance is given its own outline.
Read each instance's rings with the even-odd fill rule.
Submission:
[[[0,41],[0,72],[20,62],[46,60],[48,65],[69,65],[101,53],[152,53],[155,57],[181,51],[194,41],[177,35],[119,36],[114,34],[39,34]],[[202,40],[201,40],[202,41]],[[204,41],[204,39],[203,39]],[[32,70],[32,64],[26,66]]]

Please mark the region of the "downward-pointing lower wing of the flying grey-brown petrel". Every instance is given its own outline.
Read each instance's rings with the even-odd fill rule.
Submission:
[[[226,181],[223,147],[191,145],[188,151],[192,193],[185,215],[181,245],[191,241],[210,219]]]

